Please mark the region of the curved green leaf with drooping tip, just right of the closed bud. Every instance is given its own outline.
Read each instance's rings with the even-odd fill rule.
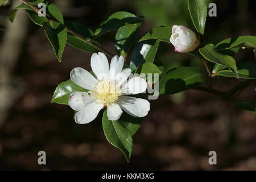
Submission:
[[[200,48],[199,52],[205,59],[228,67],[238,78],[236,61],[233,57],[218,53],[213,44],[207,44],[207,46]]]

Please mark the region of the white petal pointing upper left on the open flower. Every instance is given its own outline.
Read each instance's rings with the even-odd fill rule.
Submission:
[[[92,90],[97,83],[96,78],[94,78],[88,71],[83,68],[74,68],[70,73],[71,80],[75,84],[81,86],[82,88]]]

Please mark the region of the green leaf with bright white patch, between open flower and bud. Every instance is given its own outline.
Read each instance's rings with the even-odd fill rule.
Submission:
[[[158,50],[158,40],[144,40],[135,45],[131,54],[130,69],[134,71],[142,63],[154,62],[156,51]]]

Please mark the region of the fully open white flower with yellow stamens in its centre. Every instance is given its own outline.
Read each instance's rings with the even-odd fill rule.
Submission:
[[[147,82],[141,77],[127,81],[131,69],[123,69],[123,57],[114,56],[110,66],[104,53],[93,53],[90,65],[97,79],[83,68],[74,68],[70,77],[75,84],[90,90],[71,93],[68,105],[76,110],[75,121],[85,124],[93,121],[99,111],[107,108],[108,119],[118,120],[122,110],[134,117],[144,117],[150,110],[150,103],[142,98],[127,95],[142,93]]]

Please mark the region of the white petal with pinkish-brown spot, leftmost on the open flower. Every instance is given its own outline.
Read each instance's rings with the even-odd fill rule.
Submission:
[[[85,101],[89,99],[86,92],[72,92],[69,96],[68,105],[76,111],[82,110],[85,107]]]

